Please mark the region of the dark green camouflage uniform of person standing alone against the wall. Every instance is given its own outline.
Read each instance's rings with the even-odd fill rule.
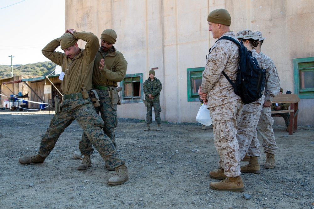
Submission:
[[[155,120],[156,124],[161,123],[160,119],[160,112],[161,112],[161,107],[160,107],[160,91],[161,91],[161,82],[155,77],[153,81],[148,78],[144,84],[143,84],[143,91],[145,94],[145,100],[147,101],[147,107],[146,107],[146,123],[152,123],[152,107],[154,107],[154,112],[155,112]],[[154,96],[153,99],[149,98],[148,95],[151,94]]]

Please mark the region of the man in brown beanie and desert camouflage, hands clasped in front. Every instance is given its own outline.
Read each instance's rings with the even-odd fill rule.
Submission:
[[[213,38],[229,36],[236,39],[230,31],[231,17],[227,10],[216,9],[207,17],[209,31]],[[236,139],[243,102],[234,93],[224,71],[234,82],[239,68],[238,45],[229,40],[219,40],[209,50],[203,71],[202,86],[198,93],[210,111],[213,121],[214,143],[219,154],[219,169],[209,172],[220,182],[211,182],[210,188],[220,191],[243,191],[244,184],[240,172],[239,145]]]

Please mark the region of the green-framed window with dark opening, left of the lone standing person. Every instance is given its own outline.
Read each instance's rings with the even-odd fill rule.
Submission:
[[[143,103],[143,73],[125,75],[120,86],[121,103]]]

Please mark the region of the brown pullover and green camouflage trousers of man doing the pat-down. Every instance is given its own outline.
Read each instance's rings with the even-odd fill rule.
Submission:
[[[100,60],[105,60],[105,67],[103,71],[99,70]],[[96,90],[99,96],[100,107],[96,107],[97,114],[101,115],[105,125],[104,125],[104,133],[110,138],[113,145],[116,147],[115,143],[115,132],[114,128],[118,125],[117,118],[117,105],[111,103],[111,99],[109,97],[109,91],[99,89],[103,87],[117,87],[117,82],[123,80],[124,76],[127,72],[127,61],[121,52],[117,51],[114,46],[108,52],[104,52],[99,48],[97,55],[94,61],[94,70],[93,70],[93,90]],[[95,86],[96,84],[96,86]],[[92,155],[93,147],[92,143],[87,138],[86,134],[83,133],[82,140],[79,142],[79,149],[82,154]]]

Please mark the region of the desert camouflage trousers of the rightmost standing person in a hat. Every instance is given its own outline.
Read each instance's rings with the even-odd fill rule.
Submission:
[[[258,122],[258,130],[263,138],[264,153],[276,154],[276,149],[278,148],[275,141],[273,123],[274,119],[271,116],[271,108],[263,107],[261,118]]]

